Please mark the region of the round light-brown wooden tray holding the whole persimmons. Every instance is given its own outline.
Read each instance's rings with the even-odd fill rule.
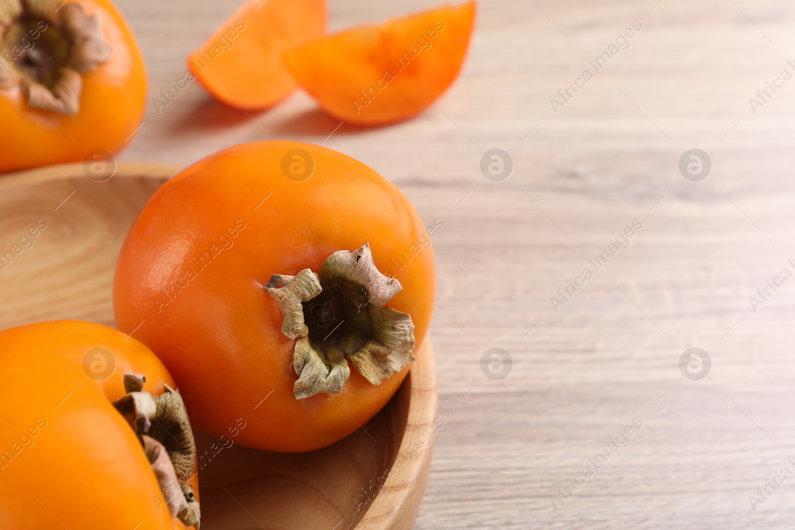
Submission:
[[[119,163],[95,182],[82,164],[0,176],[0,328],[49,319],[114,325],[113,270],[126,230],[180,170]],[[28,229],[46,223],[36,238]],[[22,239],[21,239],[22,238]],[[23,244],[24,243],[24,244]],[[436,435],[436,368],[423,342],[409,377],[362,429],[319,451],[211,450],[197,433],[202,530],[412,528]]]

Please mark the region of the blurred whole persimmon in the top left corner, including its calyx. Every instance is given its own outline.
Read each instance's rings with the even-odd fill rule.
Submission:
[[[141,52],[109,0],[0,2],[0,173],[118,153],[145,97]]]

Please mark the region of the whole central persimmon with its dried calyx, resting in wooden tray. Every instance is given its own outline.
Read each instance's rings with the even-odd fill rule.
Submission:
[[[435,269],[394,184],[316,145],[224,149],[158,189],[114,277],[122,331],[173,373],[197,427],[311,451],[359,429],[428,331]]]

